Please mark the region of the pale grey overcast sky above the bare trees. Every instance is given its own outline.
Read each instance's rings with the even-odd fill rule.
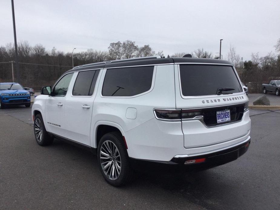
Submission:
[[[248,60],[265,56],[280,38],[280,1],[14,0],[17,40],[69,52],[107,50],[111,42],[150,44],[164,55],[232,44]],[[13,42],[10,0],[0,3],[0,45]]]

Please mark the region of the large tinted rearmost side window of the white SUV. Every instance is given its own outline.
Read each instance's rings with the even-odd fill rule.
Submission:
[[[107,69],[103,96],[135,96],[150,90],[153,66]]]

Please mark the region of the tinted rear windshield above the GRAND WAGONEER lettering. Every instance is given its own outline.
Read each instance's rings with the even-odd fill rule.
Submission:
[[[242,88],[231,66],[180,65],[180,79],[183,96],[242,92]]]

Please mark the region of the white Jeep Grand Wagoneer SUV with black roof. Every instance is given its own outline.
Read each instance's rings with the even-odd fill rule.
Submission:
[[[250,144],[248,97],[228,61],[143,57],[87,64],[41,94],[32,106],[37,143],[55,137],[90,149],[114,186],[138,167],[218,166]]]

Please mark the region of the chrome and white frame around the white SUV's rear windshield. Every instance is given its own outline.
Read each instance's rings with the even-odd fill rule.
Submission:
[[[239,92],[239,93],[233,93],[233,94],[225,94],[225,95],[204,95],[204,96],[184,96],[183,95],[183,92],[182,92],[182,85],[181,85],[181,76],[180,76],[180,65],[179,64],[205,64],[205,65],[226,65],[226,66],[232,66],[233,68],[233,71],[234,71],[234,74],[236,75],[236,79],[238,80],[239,82],[239,85],[240,85],[240,80],[239,80],[239,77],[238,77],[238,74],[236,72],[236,69],[234,68],[233,65],[231,64],[211,64],[211,63],[176,63],[178,64],[178,74],[179,74],[179,85],[180,85],[180,94],[181,94],[181,97],[183,99],[198,99],[198,98],[213,98],[213,97],[225,97],[225,96],[236,96],[236,95],[241,95],[241,94],[245,94],[245,91],[243,88],[242,89],[242,92]]]

